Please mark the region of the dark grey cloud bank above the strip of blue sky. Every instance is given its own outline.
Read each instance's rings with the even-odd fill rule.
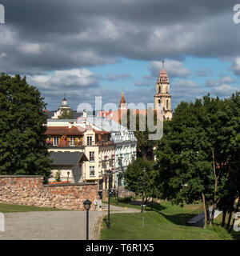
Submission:
[[[117,62],[119,57],[158,60],[239,54],[234,1],[2,0],[2,4],[6,24],[0,34],[7,30],[11,41],[0,42],[0,54],[7,55],[0,68],[8,72],[94,66]]]

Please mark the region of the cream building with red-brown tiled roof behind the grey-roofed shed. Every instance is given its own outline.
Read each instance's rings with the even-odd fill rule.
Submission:
[[[103,174],[106,170],[114,170],[114,154],[115,145],[110,140],[110,132],[98,129],[86,120],[76,119],[48,119],[46,143],[49,145],[50,152],[56,152],[59,155],[62,152],[75,152],[83,153],[81,166],[78,166],[78,175],[74,170],[64,170],[63,167],[54,165],[52,170],[53,178],[50,182],[54,181],[54,176],[57,170],[61,170],[62,181],[69,180],[70,182],[97,182],[98,190],[102,190],[104,184]],[[104,169],[99,169],[99,166],[106,166]],[[76,168],[75,168],[76,170]],[[67,176],[67,173],[70,174]],[[78,177],[78,178],[76,178]],[[114,183],[114,180],[113,180]]]

